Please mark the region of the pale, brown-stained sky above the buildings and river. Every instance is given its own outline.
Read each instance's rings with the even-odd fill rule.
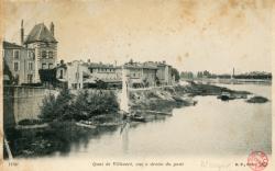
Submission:
[[[3,38],[55,24],[58,60],[166,60],[179,71],[272,70],[273,0],[3,1]]]

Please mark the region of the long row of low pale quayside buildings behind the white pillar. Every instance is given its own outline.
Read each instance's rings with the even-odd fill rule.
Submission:
[[[66,82],[69,89],[96,88],[99,82],[110,88],[119,88],[122,84],[122,70],[131,88],[146,88],[156,86],[170,86],[173,83],[172,67],[164,62],[127,62],[122,67],[72,61],[57,64],[56,79]],[[157,84],[157,81],[161,83]],[[94,84],[94,86],[92,86]]]

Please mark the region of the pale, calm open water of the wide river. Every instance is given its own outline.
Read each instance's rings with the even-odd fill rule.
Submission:
[[[271,100],[271,86],[218,84],[246,90]],[[272,151],[272,103],[223,102],[196,96],[195,106],[175,109],[173,116],[108,132],[85,144],[72,144],[66,157],[154,157],[246,155]],[[55,157],[59,157],[58,153]]]

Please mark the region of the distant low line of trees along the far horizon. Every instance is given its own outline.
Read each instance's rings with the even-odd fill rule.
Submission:
[[[271,80],[272,79],[272,73],[271,72],[258,72],[258,71],[253,71],[253,72],[248,72],[248,73],[240,73],[240,75],[216,75],[216,73],[210,73],[209,71],[199,71],[197,73],[194,73],[191,71],[183,71],[180,72],[180,78],[185,79],[193,79],[193,78],[210,78],[210,79],[266,79]]]

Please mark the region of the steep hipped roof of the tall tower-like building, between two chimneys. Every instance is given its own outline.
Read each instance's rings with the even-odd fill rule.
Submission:
[[[34,42],[57,43],[53,34],[48,31],[44,23],[34,25],[24,43],[30,44]]]

